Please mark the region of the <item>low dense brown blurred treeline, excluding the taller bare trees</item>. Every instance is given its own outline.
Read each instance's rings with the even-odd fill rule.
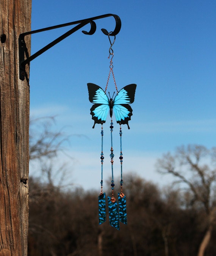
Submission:
[[[98,224],[98,194],[30,179],[29,256],[196,256],[207,214],[188,192],[125,177],[128,225]],[[108,210],[107,210],[108,212]],[[205,255],[216,255],[213,226]]]

